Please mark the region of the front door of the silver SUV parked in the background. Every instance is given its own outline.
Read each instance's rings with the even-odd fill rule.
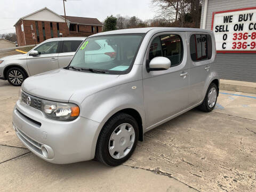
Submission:
[[[59,41],[46,42],[34,50],[38,51],[38,55],[28,55],[27,66],[30,75],[36,75],[45,71],[58,69],[58,46]]]

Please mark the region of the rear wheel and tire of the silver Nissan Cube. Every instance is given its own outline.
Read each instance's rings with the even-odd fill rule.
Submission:
[[[211,83],[206,92],[204,101],[198,108],[205,112],[210,112],[214,109],[217,102],[218,87],[216,84]]]

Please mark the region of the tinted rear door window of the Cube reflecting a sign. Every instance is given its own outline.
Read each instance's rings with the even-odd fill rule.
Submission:
[[[193,61],[212,58],[212,39],[210,35],[194,34],[190,37],[190,55]]]

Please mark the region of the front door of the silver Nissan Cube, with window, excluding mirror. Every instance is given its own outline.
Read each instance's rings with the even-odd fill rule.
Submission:
[[[171,117],[188,107],[189,68],[186,33],[155,35],[147,50],[147,60],[166,57],[167,70],[146,70],[143,64],[143,93],[147,127]]]

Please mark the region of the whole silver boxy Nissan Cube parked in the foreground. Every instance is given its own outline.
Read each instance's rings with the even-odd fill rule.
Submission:
[[[27,78],[13,110],[18,138],[57,164],[97,158],[116,166],[143,133],[216,105],[212,31],[137,28],[86,38],[65,68]]]

